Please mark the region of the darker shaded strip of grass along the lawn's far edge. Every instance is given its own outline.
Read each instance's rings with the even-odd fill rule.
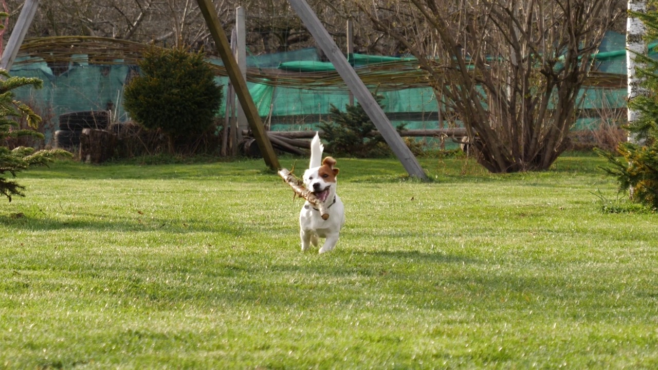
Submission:
[[[280,165],[301,176],[306,158],[284,157]],[[421,167],[433,182],[489,182],[524,178],[526,174],[492,174],[472,158],[428,158],[418,159]],[[551,166],[549,171],[534,172],[538,178],[551,178],[562,174],[600,175],[598,168],[605,160],[594,153],[565,153]],[[340,181],[359,183],[414,182],[407,176],[401,163],[395,158],[353,159],[338,158]],[[238,182],[270,182],[279,180],[276,172],[268,169],[262,159],[240,159],[233,162],[215,161],[205,163],[176,163],[163,165],[136,165],[115,163],[108,165],[86,165],[74,161],[59,161],[51,167],[37,167],[21,172],[21,178],[64,178],[70,180],[209,180]]]

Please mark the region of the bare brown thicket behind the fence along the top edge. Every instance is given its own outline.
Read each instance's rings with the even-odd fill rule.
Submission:
[[[595,1],[595,0],[593,0]],[[13,29],[23,0],[7,0],[10,15],[8,30]],[[302,47],[315,47],[315,42],[290,8],[287,0],[213,0],[216,13],[226,30],[235,22],[236,7],[247,11],[247,45],[252,53],[275,53]],[[372,1],[309,0],[309,5],[323,20],[324,26],[338,45],[346,43],[347,19],[354,22],[355,53],[397,55],[406,53],[403,43],[378,32],[367,15],[357,9],[358,3]],[[395,25],[394,13],[409,13],[410,3],[377,1],[388,9],[378,16],[382,22]],[[620,9],[626,9],[625,5]],[[407,24],[397,24],[404,34]],[[625,20],[617,30],[625,30]],[[212,38],[199,13],[196,1],[186,0],[57,0],[41,1],[28,38],[43,36],[102,36],[159,45],[192,45],[215,50]],[[432,43],[426,35],[428,44]]]

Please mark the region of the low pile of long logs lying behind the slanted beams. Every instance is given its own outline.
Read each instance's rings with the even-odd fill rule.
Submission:
[[[318,132],[320,138],[322,137],[322,131]],[[375,134],[376,132],[372,132]],[[260,151],[251,136],[251,132],[244,130],[242,135],[246,138],[244,149],[247,155],[253,157],[259,157]],[[315,136],[315,131],[268,131],[268,138],[272,142],[274,149],[280,151],[285,151],[287,153],[297,154],[297,155],[307,155],[308,149],[310,147],[310,140]],[[400,132],[400,136],[403,138],[442,138],[442,139],[452,139],[457,142],[461,142],[461,139],[466,136],[465,128],[435,128],[428,130],[404,130]]]

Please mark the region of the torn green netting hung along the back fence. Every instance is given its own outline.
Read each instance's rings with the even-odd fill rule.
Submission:
[[[597,66],[603,72],[626,73],[625,36],[608,32],[597,54]],[[654,51],[651,55],[658,57]],[[401,61],[397,57],[352,55],[349,60],[355,66],[369,63]],[[34,90],[21,88],[16,91],[17,99],[30,103],[47,119],[57,121],[63,113],[112,109],[113,119],[126,121],[128,114],[123,110],[122,92],[126,81],[136,74],[136,66],[93,65],[86,55],[76,55],[68,65],[53,65],[43,59],[32,58],[30,63],[15,64],[11,69],[14,76],[38,77],[44,88]],[[211,63],[221,65],[213,59]],[[247,65],[255,68],[280,68],[288,71],[334,70],[331,63],[320,61],[316,49],[301,49],[286,53],[249,55]],[[217,78],[224,85],[224,96],[228,78]],[[259,115],[270,124],[272,130],[302,130],[315,128],[328,119],[332,105],[344,109],[349,103],[346,88],[329,90],[274,87],[262,84],[247,84]],[[372,87],[373,91],[376,87]],[[437,128],[438,102],[431,88],[411,88],[380,92],[384,95],[384,111],[393,124],[407,124],[407,128]],[[626,89],[590,88],[583,90],[584,109],[601,111],[620,109],[626,106]],[[224,103],[222,103],[223,105]],[[220,111],[224,116],[224,107]],[[589,115],[592,117],[592,114]],[[592,119],[579,120],[577,127],[591,125]],[[47,133],[51,137],[52,133]]]

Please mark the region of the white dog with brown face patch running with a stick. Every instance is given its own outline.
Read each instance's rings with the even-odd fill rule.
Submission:
[[[338,169],[334,167],[336,159],[326,157],[320,162],[323,150],[324,145],[320,142],[320,136],[315,134],[315,138],[311,141],[311,163],[309,169],[304,172],[304,185],[324,202],[329,217],[326,220],[322,219],[318,209],[308,201],[304,203],[299,213],[302,251],[308,250],[311,244],[318,246],[319,238],[325,238],[320,253],[333,250],[338,242],[340,228],[345,223],[345,207],[336,194],[338,175]]]

